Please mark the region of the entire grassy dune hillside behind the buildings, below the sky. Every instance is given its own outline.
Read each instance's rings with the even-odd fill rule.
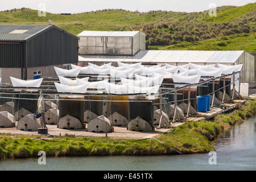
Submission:
[[[1,24],[52,24],[74,35],[84,30],[133,31],[146,34],[149,49],[256,51],[256,3],[245,6],[217,7],[217,16],[209,11],[184,13],[126,10],[100,10],[60,15],[38,10],[13,9],[0,12]],[[169,47],[165,47],[169,46]]]

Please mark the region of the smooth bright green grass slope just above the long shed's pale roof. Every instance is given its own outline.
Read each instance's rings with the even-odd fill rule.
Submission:
[[[154,46],[152,48],[154,48]],[[162,50],[245,50],[247,52],[256,52],[256,32],[251,32],[250,34],[229,35],[199,42],[183,42],[172,46],[156,48]]]

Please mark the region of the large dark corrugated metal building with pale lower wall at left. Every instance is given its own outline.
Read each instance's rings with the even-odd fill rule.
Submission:
[[[55,76],[52,65],[78,62],[78,39],[54,25],[0,25],[0,77]]]

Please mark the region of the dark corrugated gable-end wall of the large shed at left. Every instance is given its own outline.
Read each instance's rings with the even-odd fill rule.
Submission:
[[[26,43],[26,65],[42,67],[78,62],[78,38],[51,28]]]

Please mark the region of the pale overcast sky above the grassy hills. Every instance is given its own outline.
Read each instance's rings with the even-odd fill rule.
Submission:
[[[195,12],[213,6],[243,6],[256,0],[0,0],[0,11],[27,7],[49,13],[84,13],[104,9],[123,9],[139,12],[151,10]]]

